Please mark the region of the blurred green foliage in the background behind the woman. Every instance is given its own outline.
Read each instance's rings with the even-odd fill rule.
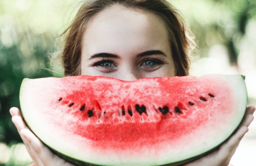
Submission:
[[[227,49],[229,64],[237,69],[243,69],[239,66],[239,56],[243,56],[241,51],[245,49],[255,56],[255,0],[169,1],[181,11],[195,35],[198,44],[195,54],[200,58],[208,57],[209,50],[216,44]],[[60,34],[72,19],[79,5],[77,2],[0,1],[0,142],[9,147],[21,142],[11,122],[9,109],[20,107],[22,79],[53,76],[43,66],[49,66],[49,55],[56,49],[56,34]],[[251,61],[255,67],[256,58],[253,57]],[[255,96],[249,97],[251,103],[255,103]],[[1,163],[4,164],[0,158]],[[7,165],[20,164],[9,160]]]

